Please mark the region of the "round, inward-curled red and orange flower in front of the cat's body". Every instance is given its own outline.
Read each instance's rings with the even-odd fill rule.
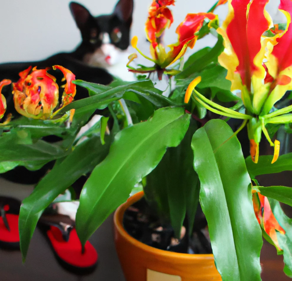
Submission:
[[[34,119],[47,119],[53,115],[59,102],[59,86],[56,78],[46,69],[31,66],[19,73],[20,79],[13,83],[14,106],[19,114]],[[72,83],[75,75],[62,66],[53,66],[64,74],[65,84],[60,108],[72,102],[76,85]]]

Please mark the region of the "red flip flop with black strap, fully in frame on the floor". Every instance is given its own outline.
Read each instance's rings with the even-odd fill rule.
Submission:
[[[75,222],[66,215],[42,215],[39,220],[58,261],[70,271],[92,271],[98,254],[89,241],[82,249],[75,230]]]

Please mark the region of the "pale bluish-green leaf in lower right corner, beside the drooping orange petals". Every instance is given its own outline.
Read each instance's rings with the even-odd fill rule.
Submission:
[[[285,235],[277,233],[277,238],[281,249],[283,249],[284,273],[292,277],[292,219],[287,217],[277,200],[269,198],[269,202],[276,220],[286,231]]]

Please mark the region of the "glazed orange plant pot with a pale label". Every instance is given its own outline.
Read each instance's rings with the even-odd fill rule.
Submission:
[[[222,281],[212,254],[180,254],[136,240],[123,228],[126,209],[143,197],[128,199],[114,215],[115,244],[127,281]]]

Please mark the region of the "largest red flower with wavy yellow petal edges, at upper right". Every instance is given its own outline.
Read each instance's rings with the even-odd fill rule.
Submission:
[[[292,114],[287,115],[292,107],[270,113],[274,104],[292,89],[292,0],[281,0],[279,6],[287,17],[286,30],[273,26],[265,10],[268,1],[228,0],[229,14],[222,27],[217,29],[225,46],[218,61],[227,69],[226,79],[232,82],[231,91],[241,91],[246,109],[242,119],[248,120],[250,154],[255,163],[258,162],[262,132],[274,146],[272,163],[278,159],[280,143],[271,141],[265,125],[292,122]],[[271,37],[265,36],[269,30]]]

